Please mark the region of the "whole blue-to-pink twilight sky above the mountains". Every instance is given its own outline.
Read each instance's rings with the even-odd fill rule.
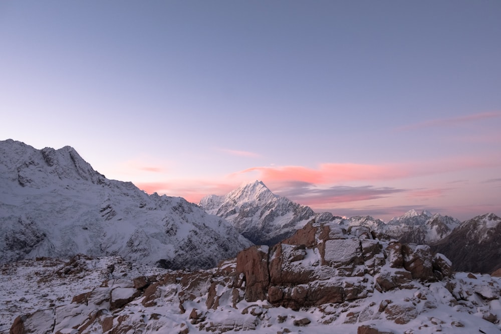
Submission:
[[[501,215],[501,2],[2,1],[0,140],[198,203]],[[1,158],[1,157],[0,157]]]

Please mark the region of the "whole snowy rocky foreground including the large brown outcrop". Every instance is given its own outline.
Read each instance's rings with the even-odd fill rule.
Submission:
[[[218,267],[41,258],[0,270],[0,332],[499,333],[501,278],[428,246],[309,222]]]

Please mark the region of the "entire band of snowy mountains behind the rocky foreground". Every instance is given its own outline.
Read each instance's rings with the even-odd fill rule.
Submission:
[[[173,269],[208,268],[253,242],[281,242],[315,220],[428,244],[458,271],[501,267],[501,218],[493,213],[464,222],[416,210],[387,223],[371,216],[343,218],[315,213],[261,181],[206,196],[197,206],[109,180],[69,146],[37,150],[6,140],[0,141],[0,157],[0,263],[85,253]]]

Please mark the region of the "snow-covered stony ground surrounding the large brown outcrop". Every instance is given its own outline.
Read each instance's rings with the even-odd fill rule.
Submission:
[[[501,279],[489,275],[456,273],[450,281],[455,284],[452,294],[443,282],[415,283],[417,288],[413,289],[374,290],[366,298],[351,302],[293,311],[282,306],[274,307],[262,300],[241,300],[233,307],[232,285],[229,280],[224,281],[226,276],[222,272],[234,270],[235,263],[228,261],[225,266],[190,276],[187,272],[132,264],[120,257],[81,257],[66,264],[59,259],[4,264],[0,268],[0,333],[9,332],[18,315],[37,310],[45,311],[36,312],[26,320],[26,324],[38,328],[37,332],[53,328],[48,320],[56,323],[54,331],[59,328],[61,333],[76,333],[78,330],[72,327],[82,329],[82,323],[86,321],[89,324],[81,331],[84,333],[103,332],[111,325],[121,328],[124,333],[179,333],[183,330],[190,333],[209,330],[236,333],[250,330],[263,334],[355,334],[362,325],[374,326],[379,332],[406,334],[495,334],[501,330],[499,323],[483,319],[501,318]],[[113,291],[111,299],[127,298],[135,291],[132,285],[127,285],[133,278],[144,275],[161,280],[165,274],[177,278],[164,279],[153,294],[145,290],[117,308],[110,306],[113,300],[104,297],[105,302],[99,306],[92,304],[99,299],[95,295],[99,289]],[[189,277],[189,282],[183,281],[186,277]],[[107,283],[103,284],[103,281]],[[211,298],[209,286],[217,281],[221,284],[215,285],[215,295],[219,298],[218,305],[214,306],[207,300]],[[91,291],[85,302],[74,298]],[[407,313],[395,312],[394,318],[391,312],[383,310],[401,310],[411,305],[413,307],[409,307]],[[93,314],[103,315],[93,320]]]

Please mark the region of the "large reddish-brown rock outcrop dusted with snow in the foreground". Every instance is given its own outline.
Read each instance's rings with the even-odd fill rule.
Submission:
[[[449,277],[450,266],[433,259],[429,246],[389,245],[365,227],[348,232],[337,223],[311,221],[269,254],[268,247],[241,252],[236,271],[247,282],[247,301],[267,298],[274,306],[299,309],[364,298],[374,289],[413,288],[414,279]]]

